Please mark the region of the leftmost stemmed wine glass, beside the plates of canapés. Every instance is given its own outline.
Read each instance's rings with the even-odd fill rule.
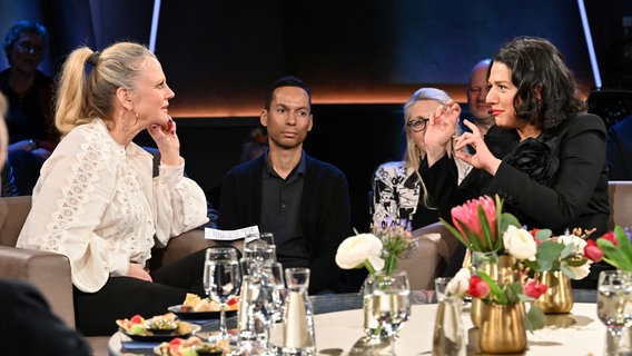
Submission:
[[[231,297],[239,294],[241,286],[237,249],[233,247],[208,248],[203,281],[206,294],[219,304],[219,335],[217,340],[227,340],[226,304]],[[211,336],[210,338],[215,337]]]

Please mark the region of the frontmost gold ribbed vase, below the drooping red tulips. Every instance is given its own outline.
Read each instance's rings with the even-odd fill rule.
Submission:
[[[486,354],[514,354],[526,349],[524,304],[488,305],[481,324],[478,347]]]

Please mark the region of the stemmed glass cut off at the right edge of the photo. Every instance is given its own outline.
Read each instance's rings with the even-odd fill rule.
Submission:
[[[604,270],[599,275],[596,314],[610,332],[619,355],[621,334],[632,326],[632,271]]]

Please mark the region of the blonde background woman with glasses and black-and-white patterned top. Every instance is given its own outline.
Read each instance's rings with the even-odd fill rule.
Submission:
[[[429,200],[424,179],[417,171],[426,155],[424,135],[427,119],[438,107],[461,111],[458,103],[440,89],[422,88],[404,105],[406,151],[403,161],[381,165],[373,176],[373,224],[386,227],[388,219],[407,221],[413,230],[438,221],[438,214]]]

